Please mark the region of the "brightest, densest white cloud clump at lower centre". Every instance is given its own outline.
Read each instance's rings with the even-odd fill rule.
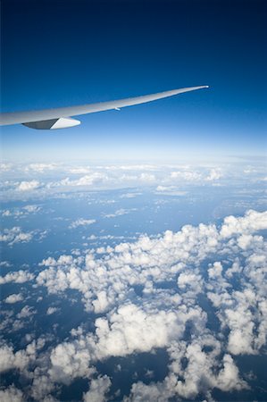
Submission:
[[[109,320],[96,319],[96,356],[127,356],[163,348],[171,339],[179,339],[185,320],[181,312],[146,312],[132,304],[121,306]]]

